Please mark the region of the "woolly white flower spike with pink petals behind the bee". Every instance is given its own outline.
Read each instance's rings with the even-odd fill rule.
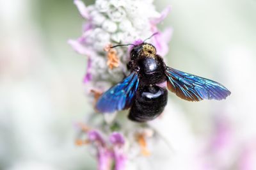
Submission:
[[[76,52],[88,58],[84,83],[95,99],[110,86],[122,81],[127,70],[131,47],[111,49],[112,45],[138,44],[147,41],[155,45],[157,53],[163,57],[168,52],[168,42],[172,29],[159,31],[157,24],[170,12],[170,7],[162,13],[156,11],[153,1],[148,0],[96,0],[85,6],[75,0],[77,9],[86,20],[83,33],[76,40],[68,40]],[[143,10],[147,9],[147,10]],[[130,160],[152,153],[152,143],[160,135],[147,123],[133,123],[125,114],[88,115],[86,125],[80,126],[86,139],[79,139],[78,145],[90,144],[96,150],[98,169],[125,169]],[[87,126],[86,126],[87,127]],[[97,129],[97,130],[95,130]]]

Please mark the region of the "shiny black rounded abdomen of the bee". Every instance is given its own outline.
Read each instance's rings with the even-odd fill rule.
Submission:
[[[158,86],[144,86],[136,93],[134,104],[129,112],[129,119],[139,122],[154,120],[163,112],[166,104],[166,89]]]

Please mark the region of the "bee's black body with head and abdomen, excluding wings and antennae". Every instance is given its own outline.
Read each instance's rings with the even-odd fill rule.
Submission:
[[[131,50],[131,61],[127,67],[138,72],[140,86],[131,105],[129,119],[132,121],[154,120],[167,104],[167,90],[156,86],[166,81],[163,58],[156,54],[156,48],[142,43]]]

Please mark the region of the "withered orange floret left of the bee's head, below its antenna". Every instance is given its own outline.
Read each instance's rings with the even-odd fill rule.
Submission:
[[[108,56],[107,65],[112,70],[113,68],[119,66],[120,59],[117,56],[116,50],[115,49],[111,49],[111,46],[112,46],[111,44],[106,45],[104,50],[106,52],[108,52],[108,55],[107,55]]]

